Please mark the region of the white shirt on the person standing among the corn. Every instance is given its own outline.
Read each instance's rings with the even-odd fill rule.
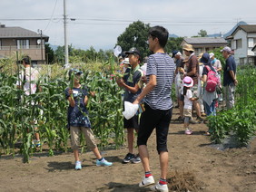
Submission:
[[[31,72],[31,75],[30,75]],[[19,79],[16,82],[16,85],[21,86],[22,82],[24,81],[24,70],[19,74]],[[31,94],[34,94],[36,91],[36,82],[39,78],[39,72],[32,68],[32,67],[26,67],[25,68],[25,84],[24,84],[24,91],[26,95],[30,95],[30,89]],[[30,89],[29,89],[30,85]]]

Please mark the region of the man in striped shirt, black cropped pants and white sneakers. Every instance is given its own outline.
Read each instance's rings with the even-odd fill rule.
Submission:
[[[142,93],[137,97],[133,104],[138,104],[144,100],[145,110],[142,113],[140,129],[138,132],[137,144],[140,157],[143,161],[145,176],[139,187],[154,184],[153,175],[149,164],[149,152],[147,140],[156,130],[157,151],[160,156],[161,178],[152,187],[156,191],[168,191],[167,171],[168,171],[168,149],[167,136],[169,124],[172,118],[172,99],[171,88],[174,78],[175,65],[172,58],[164,53],[164,46],[168,41],[168,31],[162,26],[154,26],[149,31],[149,49],[153,52],[149,56],[147,64],[148,83],[143,88]]]

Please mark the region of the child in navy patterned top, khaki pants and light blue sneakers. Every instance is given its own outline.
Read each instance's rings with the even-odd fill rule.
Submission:
[[[84,138],[86,139],[87,147],[92,149],[96,160],[96,166],[112,166],[113,163],[108,162],[104,159],[97,145],[94,141],[94,134],[91,130],[91,122],[88,117],[88,111],[86,109],[88,101],[88,92],[85,87],[80,84],[80,77],[82,72],[77,69],[72,69],[69,72],[69,77],[74,72],[74,88],[67,88],[65,90],[65,97],[69,101],[69,107],[67,111],[68,125],[70,128],[71,135],[71,147],[74,150],[75,158],[75,170],[81,170],[81,161],[79,158],[79,135],[83,131]]]

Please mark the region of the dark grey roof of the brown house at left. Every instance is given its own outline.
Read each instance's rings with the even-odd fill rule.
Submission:
[[[49,36],[43,34],[42,37],[46,42],[48,42]],[[18,26],[5,27],[1,25],[0,38],[41,38],[41,34],[37,34],[33,31]]]

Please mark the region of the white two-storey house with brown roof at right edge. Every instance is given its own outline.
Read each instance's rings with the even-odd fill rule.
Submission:
[[[231,41],[231,49],[238,64],[256,64],[256,53],[252,52],[256,44],[256,25],[239,25],[233,33],[226,37]]]

